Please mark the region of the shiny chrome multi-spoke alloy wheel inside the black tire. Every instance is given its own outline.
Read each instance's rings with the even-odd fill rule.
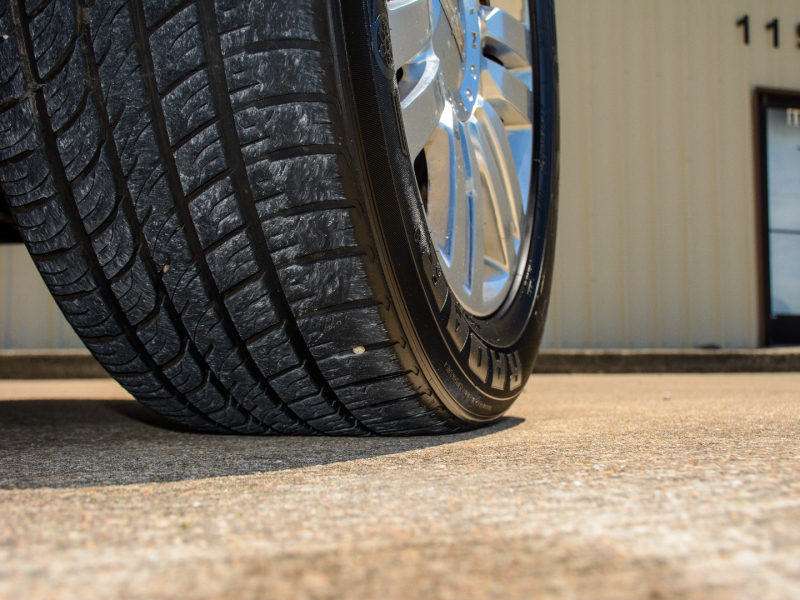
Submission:
[[[530,231],[526,0],[390,0],[409,154],[450,288],[471,314],[505,300]]]

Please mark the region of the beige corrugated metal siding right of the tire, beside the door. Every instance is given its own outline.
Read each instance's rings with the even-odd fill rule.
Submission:
[[[745,13],[749,46],[735,26]],[[561,211],[545,346],[756,346],[752,92],[800,90],[800,2],[556,0],[556,18]]]

